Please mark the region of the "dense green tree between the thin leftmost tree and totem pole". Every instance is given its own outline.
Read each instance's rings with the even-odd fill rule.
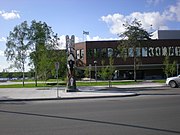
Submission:
[[[32,51],[30,59],[35,69],[35,84],[37,86],[38,76],[46,79],[50,67],[54,66],[50,56],[57,49],[58,37],[45,22],[36,22],[35,20],[31,22],[29,37]]]

